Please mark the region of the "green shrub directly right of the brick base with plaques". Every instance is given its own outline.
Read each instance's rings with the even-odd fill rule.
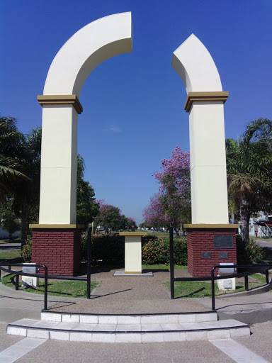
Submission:
[[[253,240],[245,241],[242,235],[236,235],[237,264],[259,263],[264,257],[263,247]]]

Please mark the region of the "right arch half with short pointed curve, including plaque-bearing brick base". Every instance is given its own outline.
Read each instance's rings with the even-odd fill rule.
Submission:
[[[237,225],[228,224],[224,104],[229,94],[222,91],[210,53],[193,34],[174,51],[172,67],[186,87],[184,108],[190,124],[192,224],[186,225],[188,269],[193,276],[207,276],[215,264],[237,262]],[[222,248],[215,247],[217,235],[222,236]],[[227,240],[233,241],[232,247]]]

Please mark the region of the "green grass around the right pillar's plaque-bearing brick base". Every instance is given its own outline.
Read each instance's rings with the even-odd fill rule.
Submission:
[[[259,282],[249,282],[249,289],[261,286],[266,283],[266,277],[261,274],[252,274],[251,277]],[[165,282],[164,286],[170,291],[170,281]],[[212,284],[203,281],[176,281],[174,282],[175,298],[204,298],[212,296]],[[234,292],[244,291],[244,283],[238,282],[236,284],[236,291],[220,291],[215,282],[215,295],[224,295]]]

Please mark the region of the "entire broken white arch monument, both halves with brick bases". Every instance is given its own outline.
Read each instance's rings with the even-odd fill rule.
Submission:
[[[50,274],[77,274],[81,226],[77,225],[77,118],[81,88],[104,60],[132,51],[131,13],[98,19],[75,33],[55,56],[42,106],[40,218],[33,228],[33,262]],[[220,76],[203,43],[191,35],[174,51],[172,67],[187,91],[191,150],[192,224],[188,269],[210,273],[220,262],[236,264],[235,225],[228,224],[224,103]],[[221,236],[215,243],[216,236]],[[233,247],[229,247],[229,238]],[[227,242],[228,241],[228,242]],[[218,250],[217,247],[220,246]],[[203,268],[205,267],[205,268]]]

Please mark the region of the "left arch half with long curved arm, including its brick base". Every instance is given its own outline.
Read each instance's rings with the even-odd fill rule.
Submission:
[[[79,102],[81,88],[97,65],[125,52],[132,52],[131,13],[113,14],[89,23],[57,53],[43,95],[38,96],[42,106],[40,216],[39,224],[30,228],[33,261],[47,264],[50,274],[75,274],[80,262],[77,118],[83,111]],[[65,271],[64,265],[69,265]]]

